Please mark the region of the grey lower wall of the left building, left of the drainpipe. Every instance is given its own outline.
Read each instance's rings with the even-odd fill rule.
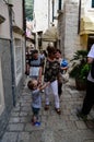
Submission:
[[[4,103],[2,104],[4,105],[3,113],[0,115],[0,137],[1,137],[8,123],[11,108],[13,107],[10,40],[8,39],[0,39],[0,60],[1,60],[2,84],[4,95],[3,97]]]

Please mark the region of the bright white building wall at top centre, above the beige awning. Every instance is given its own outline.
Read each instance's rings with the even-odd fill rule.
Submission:
[[[55,16],[57,15],[58,0],[55,0]],[[45,32],[52,24],[52,1],[51,0],[34,0],[34,31]],[[55,20],[57,25],[57,20]]]

